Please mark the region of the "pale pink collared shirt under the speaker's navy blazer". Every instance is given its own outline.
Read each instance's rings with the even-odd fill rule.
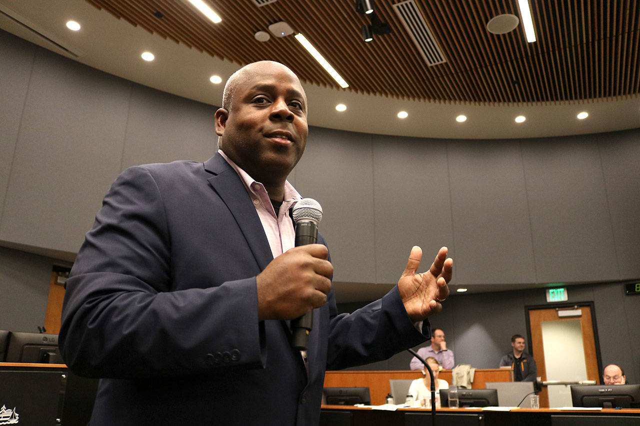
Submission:
[[[289,184],[288,180],[285,181],[284,200],[280,206],[280,211],[276,214],[264,185],[256,182],[246,171],[242,170],[235,162],[229,159],[222,150],[218,150],[218,152],[229,165],[236,170],[236,173],[246,188],[246,192],[251,197],[255,211],[258,212],[258,216],[260,217],[262,228],[264,228],[264,233],[266,233],[267,239],[269,240],[273,258],[293,248],[296,241],[296,232],[293,228],[291,217],[289,216],[289,209],[302,199],[298,191]]]

